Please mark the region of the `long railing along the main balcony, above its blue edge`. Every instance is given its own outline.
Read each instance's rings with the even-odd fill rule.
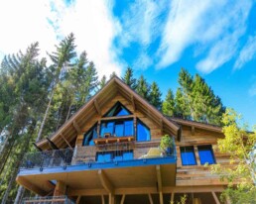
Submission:
[[[27,153],[21,168],[54,167],[80,163],[104,163],[122,160],[136,160],[176,156],[175,148],[171,153],[159,149],[160,141],[128,142],[98,146],[77,147],[57,151]]]

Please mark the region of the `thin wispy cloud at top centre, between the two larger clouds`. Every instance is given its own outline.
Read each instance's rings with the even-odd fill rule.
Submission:
[[[166,9],[167,1],[138,0],[131,4],[121,18],[123,47],[136,42],[143,47],[149,46],[161,33],[160,15]]]

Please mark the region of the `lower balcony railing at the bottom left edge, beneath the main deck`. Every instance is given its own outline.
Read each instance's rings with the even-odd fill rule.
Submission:
[[[22,204],[74,204],[66,196],[46,196],[24,198]]]

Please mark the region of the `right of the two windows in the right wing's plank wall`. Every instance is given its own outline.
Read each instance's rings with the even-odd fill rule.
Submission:
[[[200,158],[200,164],[203,165],[204,163],[215,163],[215,158],[211,146],[198,146],[197,150]]]

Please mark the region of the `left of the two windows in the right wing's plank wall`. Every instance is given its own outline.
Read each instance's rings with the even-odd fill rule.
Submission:
[[[193,147],[181,147],[183,165],[196,165]]]

